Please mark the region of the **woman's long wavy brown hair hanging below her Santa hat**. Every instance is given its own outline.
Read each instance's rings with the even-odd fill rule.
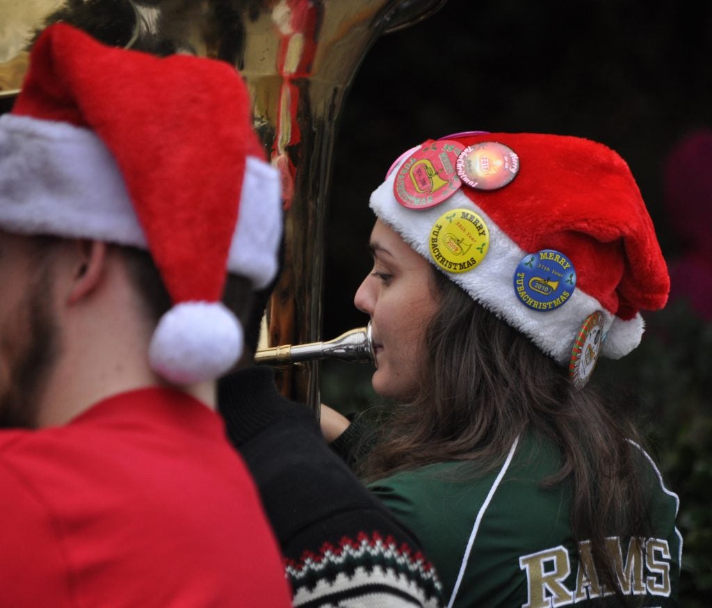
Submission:
[[[433,272],[439,312],[424,332],[419,394],[394,406],[362,473],[377,479],[443,461],[483,473],[504,461],[519,434],[544,436],[560,446],[562,465],[543,484],[571,484],[575,539],[590,540],[600,582],[623,599],[605,538],[649,531],[634,425],[620,404],[593,387],[576,389],[528,337]]]

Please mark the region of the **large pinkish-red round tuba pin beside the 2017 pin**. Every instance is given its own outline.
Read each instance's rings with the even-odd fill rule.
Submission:
[[[462,146],[450,140],[428,140],[409,154],[396,174],[393,194],[408,209],[428,209],[461,186],[455,164]]]

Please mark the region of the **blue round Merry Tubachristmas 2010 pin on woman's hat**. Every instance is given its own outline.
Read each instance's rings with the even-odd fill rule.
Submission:
[[[514,272],[514,291],[533,310],[555,310],[568,302],[576,287],[576,271],[560,251],[530,253]]]

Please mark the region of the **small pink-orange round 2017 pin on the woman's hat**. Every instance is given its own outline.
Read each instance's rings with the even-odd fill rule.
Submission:
[[[496,190],[514,179],[519,171],[519,157],[499,142],[481,142],[461,152],[455,169],[469,187]]]

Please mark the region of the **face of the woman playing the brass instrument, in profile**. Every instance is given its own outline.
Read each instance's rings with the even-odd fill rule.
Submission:
[[[354,303],[371,318],[377,369],[373,388],[406,402],[418,392],[426,325],[435,313],[433,269],[397,232],[377,220],[371,233],[373,270]]]

